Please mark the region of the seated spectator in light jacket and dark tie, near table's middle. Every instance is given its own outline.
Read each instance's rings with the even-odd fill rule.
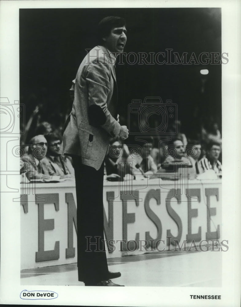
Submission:
[[[141,148],[141,155],[133,158],[132,174],[135,176],[141,174],[143,177],[154,175],[157,172],[157,166],[151,157],[152,142],[144,143]]]

